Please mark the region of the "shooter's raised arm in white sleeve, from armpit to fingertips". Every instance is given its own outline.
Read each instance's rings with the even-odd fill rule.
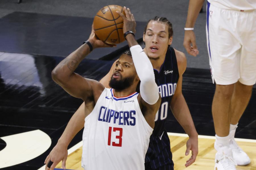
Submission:
[[[123,32],[135,32],[136,22],[133,14],[131,14],[129,8],[126,9],[124,7],[124,11],[126,16],[118,12],[124,20]],[[137,75],[141,81],[140,94],[138,96],[139,104],[143,108],[146,121],[154,128],[154,119],[160,106],[161,97],[155,82],[153,66],[132,33],[127,34],[126,40],[130,47]]]

